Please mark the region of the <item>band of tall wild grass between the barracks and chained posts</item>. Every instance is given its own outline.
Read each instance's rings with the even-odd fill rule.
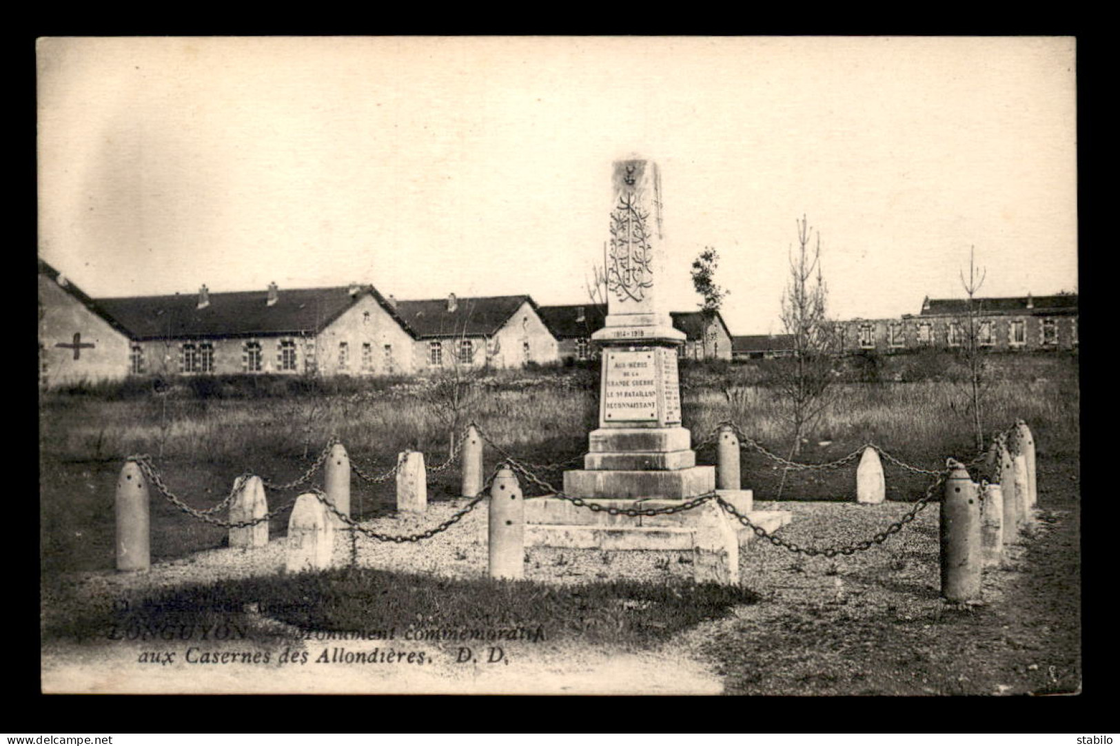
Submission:
[[[1036,431],[1047,432],[1040,440],[1044,447],[1061,444],[1063,453],[1079,451],[1076,361],[1021,355],[993,356],[993,361],[984,394],[986,432],[1023,418]],[[896,367],[904,369],[905,363]],[[693,365],[682,370],[682,377],[684,426],[698,437],[730,419],[763,442],[788,445],[782,402],[772,389],[749,383],[755,377],[750,366]],[[448,425],[426,398],[422,381],[367,383],[355,388],[354,380],[335,382],[330,390],[324,383],[315,386],[325,389],[316,389],[283,382],[301,393],[262,398],[48,394],[40,403],[40,457],[120,460],[130,454],[161,451],[166,458],[195,461],[314,458],[333,435],[371,460],[392,460],[405,448],[446,451]],[[244,382],[222,385],[242,393],[251,390]],[[594,371],[507,372],[477,385],[483,393],[468,419],[517,453],[579,453],[586,449],[587,432],[597,427]],[[735,389],[734,398],[724,393],[728,385]],[[810,439],[874,441],[911,454],[932,449],[949,455],[964,448],[969,413],[952,380],[836,385],[836,404],[808,433]]]

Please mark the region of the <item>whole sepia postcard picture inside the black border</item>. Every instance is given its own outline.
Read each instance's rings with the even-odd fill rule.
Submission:
[[[35,52],[43,693],[1084,693],[1075,38]]]

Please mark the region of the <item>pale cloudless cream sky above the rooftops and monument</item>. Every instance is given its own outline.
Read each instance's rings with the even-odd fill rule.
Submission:
[[[53,38],[39,255],[93,297],[370,282],[588,302],[610,167],[661,168],[657,292],[720,254],[781,332],[795,221],[836,318],[1077,286],[1075,41]]]

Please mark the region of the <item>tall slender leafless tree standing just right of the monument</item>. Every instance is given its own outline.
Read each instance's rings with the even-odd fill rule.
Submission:
[[[790,457],[801,451],[801,439],[832,403],[837,365],[836,325],[828,317],[828,287],[821,273],[821,236],[802,216],[797,249],[790,248],[790,280],[782,295],[782,326],[793,354],[774,361],[774,386],[792,426]]]

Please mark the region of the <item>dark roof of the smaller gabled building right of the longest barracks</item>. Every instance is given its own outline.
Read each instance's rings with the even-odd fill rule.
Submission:
[[[419,337],[493,336],[524,304],[538,310],[529,296],[457,298],[448,310],[448,298],[398,300],[396,314]]]

